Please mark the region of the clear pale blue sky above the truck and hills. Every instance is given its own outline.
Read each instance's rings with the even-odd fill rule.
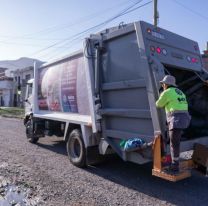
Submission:
[[[0,0],[0,60],[52,61],[81,49],[83,39],[121,22],[153,23],[151,0]],[[108,24],[124,9],[142,6]],[[208,41],[207,0],[158,0],[158,26],[199,43]]]

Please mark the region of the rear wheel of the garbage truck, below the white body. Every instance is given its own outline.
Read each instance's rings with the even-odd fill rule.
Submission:
[[[74,129],[70,133],[66,147],[70,162],[77,167],[85,167],[86,149],[79,129]]]

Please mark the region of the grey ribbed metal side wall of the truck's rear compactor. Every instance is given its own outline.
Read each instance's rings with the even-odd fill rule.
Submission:
[[[154,139],[151,106],[155,102],[148,90],[152,83],[147,59],[142,59],[134,25],[105,36],[103,45],[99,65],[103,137],[124,160],[144,163],[145,159],[123,153],[119,143],[132,137]]]

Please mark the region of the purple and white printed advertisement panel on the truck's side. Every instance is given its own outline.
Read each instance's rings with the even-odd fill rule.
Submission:
[[[39,110],[89,115],[83,57],[39,69]]]

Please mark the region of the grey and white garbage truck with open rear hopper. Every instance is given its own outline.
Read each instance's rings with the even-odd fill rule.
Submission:
[[[195,143],[208,145],[208,73],[198,43],[143,21],[91,34],[80,51],[34,65],[25,100],[26,136],[32,143],[62,138],[78,167],[110,153],[151,162],[155,135],[167,138],[165,113],[155,105],[167,74],[186,94],[192,116],[181,152]],[[132,138],[142,140],[139,152],[123,148]]]

